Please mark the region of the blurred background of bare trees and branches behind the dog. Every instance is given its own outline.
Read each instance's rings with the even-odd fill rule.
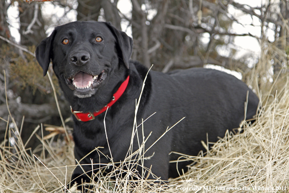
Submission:
[[[62,125],[48,77],[23,49],[34,53],[57,25],[109,21],[133,38],[132,59],[148,68],[169,72],[213,64],[233,70],[256,91],[288,73],[288,19],[289,0],[0,0],[0,142],[15,127],[6,97],[24,143],[40,123]],[[49,72],[72,127],[69,105],[51,67]],[[33,136],[27,147],[37,151],[40,142]]]

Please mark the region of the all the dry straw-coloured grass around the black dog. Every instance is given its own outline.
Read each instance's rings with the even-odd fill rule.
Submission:
[[[101,193],[289,192],[289,76],[283,69],[278,77],[273,77],[273,83],[268,77],[271,59],[276,59],[278,55],[280,61],[286,61],[284,53],[284,50],[267,44],[259,63],[251,75],[247,75],[247,83],[253,86],[262,100],[262,112],[257,120],[253,125],[244,122],[242,134],[227,133],[216,144],[204,142],[204,146],[213,146],[206,155],[182,155],[195,163],[189,166],[188,173],[171,179],[167,187],[146,180],[149,169],[144,169],[143,179],[130,181],[130,177],[136,174],[135,166],[142,165],[145,159],[144,144],[140,144],[140,150],[131,152],[120,166],[109,164],[114,168],[113,172],[108,175],[101,171],[97,173],[100,180],[91,182],[91,190]],[[0,144],[0,192],[77,192],[75,187],[65,188],[75,167],[73,142],[55,142],[37,136],[42,142],[38,148],[42,154],[34,155],[17,137],[21,128],[9,128],[13,119],[6,121],[6,140]],[[36,129],[43,128],[39,126]],[[8,141],[12,136],[17,139],[13,147],[10,146],[13,143]],[[139,159],[133,160],[132,154]],[[128,162],[132,163],[129,169]],[[116,180],[112,180],[111,176],[116,176]]]

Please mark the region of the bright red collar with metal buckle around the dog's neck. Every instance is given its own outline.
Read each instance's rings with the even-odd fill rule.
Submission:
[[[73,111],[72,107],[70,106],[70,110],[71,110],[72,114],[79,121],[90,121],[90,120],[93,120],[95,118],[95,116],[98,116],[99,114],[105,112],[108,109],[108,107],[111,107],[111,105],[113,105],[122,96],[122,94],[126,90],[126,86],[128,84],[128,80],[129,80],[129,76],[121,84],[121,86],[118,88],[118,90],[113,94],[113,97],[110,100],[110,102],[106,106],[104,106],[101,110],[96,111],[94,113],[90,113],[90,112],[83,113],[82,111]]]

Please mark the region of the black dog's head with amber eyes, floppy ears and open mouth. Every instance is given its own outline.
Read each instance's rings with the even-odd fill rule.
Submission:
[[[132,39],[109,23],[75,21],[58,26],[36,48],[45,76],[50,60],[60,86],[74,97],[91,97],[116,71],[129,68]]]

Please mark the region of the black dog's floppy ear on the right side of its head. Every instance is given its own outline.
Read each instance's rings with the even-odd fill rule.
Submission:
[[[121,56],[124,61],[124,64],[126,65],[126,68],[129,68],[129,58],[132,54],[132,47],[133,47],[133,40],[126,35],[125,32],[122,32],[112,25],[110,23],[106,23],[110,31],[113,33],[114,37],[116,38],[117,44],[121,51]]]

